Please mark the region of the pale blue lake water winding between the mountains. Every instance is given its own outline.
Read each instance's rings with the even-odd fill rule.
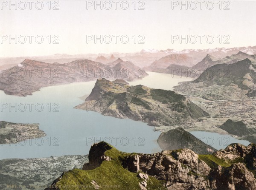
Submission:
[[[149,72],[148,77],[130,84],[172,90],[178,82],[187,80],[192,78]],[[47,134],[17,144],[0,145],[0,159],[85,155],[93,143],[102,140],[130,153],[161,151],[156,141],[160,132],[155,132],[154,127],[146,123],[74,109],[83,102],[79,97],[90,94],[94,84],[95,81],[51,86],[26,97],[10,96],[0,91],[0,121],[39,123],[40,129]],[[3,104],[8,108],[3,108]],[[208,135],[207,132],[194,135],[197,134]],[[221,136],[218,133],[214,135],[216,138]],[[217,147],[215,144],[212,146]]]

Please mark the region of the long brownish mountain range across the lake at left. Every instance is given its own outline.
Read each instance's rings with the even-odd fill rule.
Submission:
[[[102,77],[133,81],[148,75],[139,70],[131,62],[109,66],[91,60],[51,64],[26,59],[15,67],[1,71],[0,90],[10,95],[26,96],[46,86],[87,82]]]

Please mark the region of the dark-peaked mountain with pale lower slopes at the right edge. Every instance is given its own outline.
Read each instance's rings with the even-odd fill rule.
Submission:
[[[182,82],[174,90],[208,100],[248,99],[256,95],[256,66],[249,59],[213,65],[197,79]]]

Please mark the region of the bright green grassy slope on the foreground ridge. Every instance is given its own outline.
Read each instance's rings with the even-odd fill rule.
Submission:
[[[94,189],[94,186],[91,184],[91,181],[94,180],[99,184],[99,189],[101,190],[115,188],[140,190],[139,182],[143,181],[143,179],[137,177],[138,173],[129,172],[121,165],[122,157],[128,156],[129,154],[112,148],[111,150],[107,150],[105,155],[110,156],[112,160],[102,162],[101,166],[94,170],[74,169],[68,171],[57,182],[56,186],[60,190]],[[163,187],[164,182],[149,176],[147,190],[166,190]]]

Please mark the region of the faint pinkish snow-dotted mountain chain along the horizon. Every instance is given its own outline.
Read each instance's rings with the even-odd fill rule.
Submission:
[[[230,56],[232,54],[237,54],[242,51],[247,54],[256,54],[256,46],[248,47],[237,47],[237,48],[215,48],[215,49],[184,49],[182,51],[176,51],[174,49],[166,50],[155,50],[155,49],[143,49],[140,52],[135,53],[118,53],[114,52],[111,54],[54,54],[50,56],[35,56],[35,57],[1,57],[0,65],[18,64],[25,59],[38,60],[42,62],[59,62],[67,63],[75,60],[94,60],[96,62],[108,63],[113,62],[115,58],[120,57],[122,60],[131,61],[139,67],[146,67],[151,65],[152,62],[159,60],[162,57],[171,54],[186,54],[191,57],[191,62],[189,65],[192,66],[200,62],[207,54],[218,59]]]

